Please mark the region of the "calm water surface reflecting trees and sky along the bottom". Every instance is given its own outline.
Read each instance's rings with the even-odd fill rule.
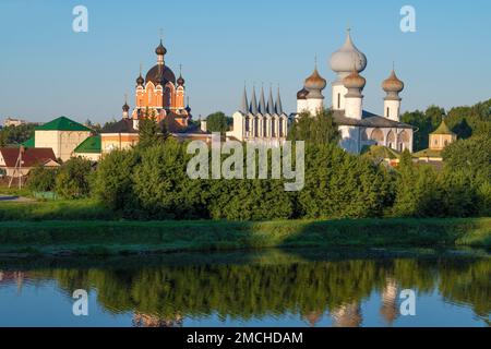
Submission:
[[[88,316],[72,293],[88,292]],[[417,293],[416,316],[400,291]],[[0,326],[489,326],[484,251],[263,251],[0,262]]]

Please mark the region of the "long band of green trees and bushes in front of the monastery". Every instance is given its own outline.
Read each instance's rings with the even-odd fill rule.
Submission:
[[[489,216],[488,125],[448,146],[441,171],[414,164],[409,152],[393,169],[339,148],[330,110],[318,118],[302,116],[289,137],[306,141],[306,185],[290,193],[285,192],[284,180],[189,179],[188,144],[167,136],[148,119],[134,148],[105,155],[96,169],[81,158],[67,161],[57,172],[38,168],[29,185],[67,198],[96,197],[129,219]]]

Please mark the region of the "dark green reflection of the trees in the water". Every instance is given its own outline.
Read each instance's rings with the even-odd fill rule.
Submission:
[[[491,263],[488,260],[359,260],[282,264],[163,266],[153,268],[55,269],[69,292],[96,288],[98,302],[113,312],[136,313],[135,324],[182,325],[184,316],[216,314],[252,317],[300,314],[311,325],[330,312],[339,326],[362,323],[360,304],[374,290],[382,297],[381,316],[392,324],[400,289],[432,293],[474,306],[489,316]]]

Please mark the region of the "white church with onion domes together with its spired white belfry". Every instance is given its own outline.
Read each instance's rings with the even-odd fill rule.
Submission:
[[[332,84],[332,106],[334,120],[342,135],[340,146],[352,154],[360,154],[363,147],[371,145],[386,146],[392,149],[412,152],[414,128],[400,122],[399,93],[404,83],[393,70],[390,77],[382,83],[386,93],[383,104],[383,116],[363,109],[362,91],[367,84],[360,75],[367,68],[367,57],[355,46],[348,29],[343,47],[331,57],[331,69],[337,74]],[[297,112],[287,116],[283,111],[279,96],[273,104],[272,91],[267,106],[264,89],[261,91],[260,103],[255,91],[251,104],[248,105],[244,91],[241,110],[233,115],[233,131],[228,136],[239,141],[254,142],[265,145],[279,145],[287,135],[292,122],[303,112],[315,116],[325,107],[323,91],[327,82],[315,67],[303,88],[297,94]]]

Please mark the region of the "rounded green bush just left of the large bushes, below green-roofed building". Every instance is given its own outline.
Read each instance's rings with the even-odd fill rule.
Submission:
[[[56,179],[56,192],[63,198],[87,197],[91,192],[89,176],[92,164],[76,157],[64,163]]]

